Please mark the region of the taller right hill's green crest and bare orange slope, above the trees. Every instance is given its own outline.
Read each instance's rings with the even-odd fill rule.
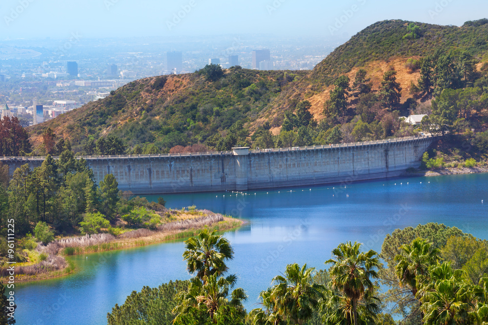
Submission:
[[[405,66],[407,59],[425,57],[436,50],[459,53],[467,50],[478,62],[488,61],[488,21],[468,21],[463,26],[440,26],[415,22],[422,36],[404,39],[411,21],[384,20],[376,22],[336,48],[299,83],[277,98],[270,111],[283,114],[288,98],[300,96],[312,104],[311,111],[322,118],[324,103],[329,98],[334,80],[347,75],[351,80],[360,68],[366,69],[378,90],[383,74],[393,67],[404,92],[402,101],[409,94],[410,82],[419,77],[418,71],[411,73]],[[280,109],[281,108],[281,109]]]

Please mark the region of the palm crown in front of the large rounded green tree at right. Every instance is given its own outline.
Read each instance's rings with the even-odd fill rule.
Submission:
[[[400,284],[410,287],[414,296],[417,295],[419,276],[427,276],[429,266],[439,260],[439,249],[432,249],[432,244],[421,238],[416,238],[411,244],[401,246],[402,253],[395,257],[398,264],[395,274]]]

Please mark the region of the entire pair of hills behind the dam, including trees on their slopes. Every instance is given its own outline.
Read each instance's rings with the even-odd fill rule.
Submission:
[[[488,91],[488,64],[479,63],[487,60],[487,40],[488,19],[461,27],[380,21],[312,71],[207,66],[193,74],[145,78],[28,132],[36,153],[45,151],[41,134],[47,128],[85,154],[108,154],[96,141],[109,135],[122,139],[126,153],[181,151],[186,149],[179,146],[194,144],[228,150],[361,141],[417,134],[401,128],[398,116],[417,107],[417,113],[430,112],[421,101],[430,105],[444,89],[465,88],[472,88],[465,95],[476,101],[475,112],[451,112],[449,123],[462,118],[457,129],[479,128]],[[365,70],[358,82],[360,68]],[[424,87],[419,80],[425,73],[431,80]]]

